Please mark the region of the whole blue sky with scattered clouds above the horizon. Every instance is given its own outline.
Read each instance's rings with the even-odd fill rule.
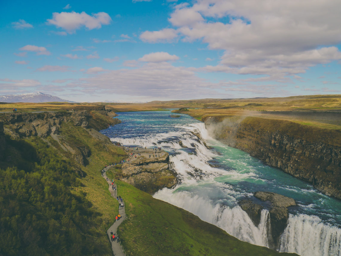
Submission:
[[[341,94],[335,0],[0,2],[0,95]]]

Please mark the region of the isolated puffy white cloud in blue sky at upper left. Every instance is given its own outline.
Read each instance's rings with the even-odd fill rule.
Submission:
[[[110,24],[112,20],[105,12],[95,13],[92,16],[85,12],[61,12],[53,13],[53,18],[47,20],[47,24],[55,25],[57,28],[65,29],[69,34],[72,34],[82,26],[87,29],[101,28],[102,25]]]

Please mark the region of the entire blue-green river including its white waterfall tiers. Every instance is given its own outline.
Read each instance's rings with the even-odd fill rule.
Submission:
[[[170,111],[121,112],[121,124],[101,132],[123,145],[162,147],[181,180],[173,189],[153,195],[212,223],[240,240],[268,246],[263,210],[255,226],[237,201],[256,191],[292,197],[298,206],[289,210],[280,252],[302,256],[341,256],[341,201],[330,198],[283,171],[270,167],[241,150],[210,137],[205,124]],[[207,149],[191,132],[201,133]],[[187,148],[179,145],[179,140]]]

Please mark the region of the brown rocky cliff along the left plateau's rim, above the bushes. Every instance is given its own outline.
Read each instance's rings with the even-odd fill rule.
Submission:
[[[5,134],[14,139],[39,137],[48,141],[51,145],[58,146],[68,153],[76,163],[83,166],[88,164],[88,157],[91,155],[89,147],[77,141],[65,139],[60,133],[63,125],[72,124],[83,128],[100,130],[107,128],[109,125],[119,123],[120,120],[113,119],[116,116],[110,110],[98,111],[60,111],[60,112],[21,112],[21,113],[1,113],[0,114],[0,158],[5,157]],[[94,131],[92,132],[92,134]],[[52,140],[48,140],[48,136]],[[102,139],[109,139],[100,133],[93,134]],[[57,142],[57,143],[55,143]],[[64,153],[65,153],[64,152]],[[10,160],[8,160],[10,161]],[[81,174],[81,172],[80,172]]]

